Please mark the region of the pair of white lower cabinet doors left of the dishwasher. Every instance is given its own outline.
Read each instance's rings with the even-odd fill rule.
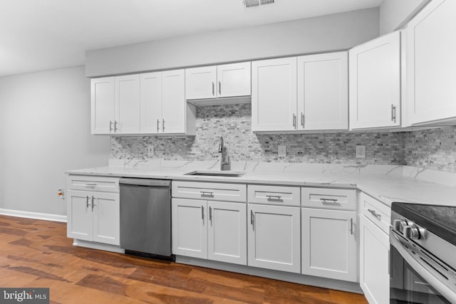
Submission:
[[[120,245],[118,193],[68,190],[66,196],[69,238]]]

